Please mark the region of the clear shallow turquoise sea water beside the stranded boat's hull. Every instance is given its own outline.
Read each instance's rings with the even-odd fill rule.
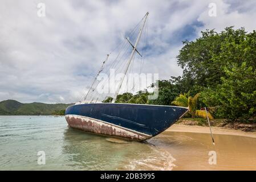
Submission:
[[[38,151],[46,164],[38,164]],[[172,169],[173,160],[153,144],[109,142],[71,129],[64,117],[0,116],[1,170],[159,170]]]

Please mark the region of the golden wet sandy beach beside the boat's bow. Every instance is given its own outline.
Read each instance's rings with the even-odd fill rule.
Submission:
[[[212,127],[173,125],[149,142],[169,152],[172,170],[256,170],[256,133]],[[210,164],[216,152],[216,164]]]

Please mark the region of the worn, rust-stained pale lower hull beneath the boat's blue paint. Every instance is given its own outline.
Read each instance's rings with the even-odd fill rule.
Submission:
[[[111,123],[105,123],[87,117],[80,117],[78,115],[66,115],[66,120],[70,127],[96,134],[111,135],[131,140],[145,140],[152,137],[151,135],[144,135],[142,133],[136,133],[136,131],[126,130],[123,127]]]

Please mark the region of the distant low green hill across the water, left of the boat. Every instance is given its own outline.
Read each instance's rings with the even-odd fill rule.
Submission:
[[[72,104],[44,104],[33,102],[22,104],[15,100],[0,102],[0,115],[58,115],[63,114],[68,106]]]

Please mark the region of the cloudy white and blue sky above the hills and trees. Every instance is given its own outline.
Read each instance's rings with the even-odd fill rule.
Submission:
[[[45,5],[45,16],[39,3]],[[160,79],[182,75],[176,56],[183,40],[195,40],[213,28],[256,30],[253,0],[3,0],[0,101],[76,101],[105,55],[147,11],[150,53],[143,72],[159,73]]]

